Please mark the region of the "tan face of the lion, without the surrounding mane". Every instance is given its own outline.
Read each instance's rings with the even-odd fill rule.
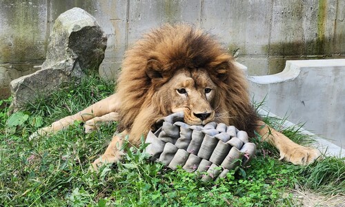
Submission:
[[[207,124],[215,119],[212,107],[217,86],[204,69],[181,69],[157,92],[167,112],[184,111],[186,124]]]

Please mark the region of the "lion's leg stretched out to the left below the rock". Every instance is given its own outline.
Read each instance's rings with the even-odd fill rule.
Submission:
[[[110,112],[116,112],[119,108],[119,104],[121,103],[120,100],[117,98],[117,94],[110,95],[106,99],[102,99],[101,101],[98,101],[97,103],[88,106],[88,108],[85,108],[80,112],[77,112],[75,115],[64,117],[63,119],[55,121],[50,126],[41,128],[30,138],[33,138],[37,135],[46,135],[50,132],[57,132],[72,125],[75,121],[85,122],[90,119],[93,119],[94,117],[101,117]]]

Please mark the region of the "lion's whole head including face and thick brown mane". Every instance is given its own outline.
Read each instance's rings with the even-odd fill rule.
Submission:
[[[187,124],[210,121],[255,129],[246,78],[209,34],[163,26],[126,52],[117,84],[119,130],[140,137],[157,120],[184,111]]]

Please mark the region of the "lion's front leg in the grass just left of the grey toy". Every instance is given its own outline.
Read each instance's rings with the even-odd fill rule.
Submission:
[[[121,150],[122,142],[125,139],[126,135],[127,131],[124,130],[124,132],[121,132],[120,134],[114,135],[114,137],[112,137],[112,141],[108,145],[106,152],[104,152],[103,155],[101,155],[93,162],[92,166],[95,170],[97,170],[102,164],[115,163],[121,159],[122,155],[124,155],[124,151]]]

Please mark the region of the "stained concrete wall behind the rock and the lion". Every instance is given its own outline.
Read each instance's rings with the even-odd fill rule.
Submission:
[[[215,34],[250,75],[282,71],[286,59],[345,57],[342,0],[0,0],[0,98],[9,95],[10,80],[39,69],[55,19],[73,7],[92,14],[106,32],[99,72],[110,79],[126,48],[165,22]]]

